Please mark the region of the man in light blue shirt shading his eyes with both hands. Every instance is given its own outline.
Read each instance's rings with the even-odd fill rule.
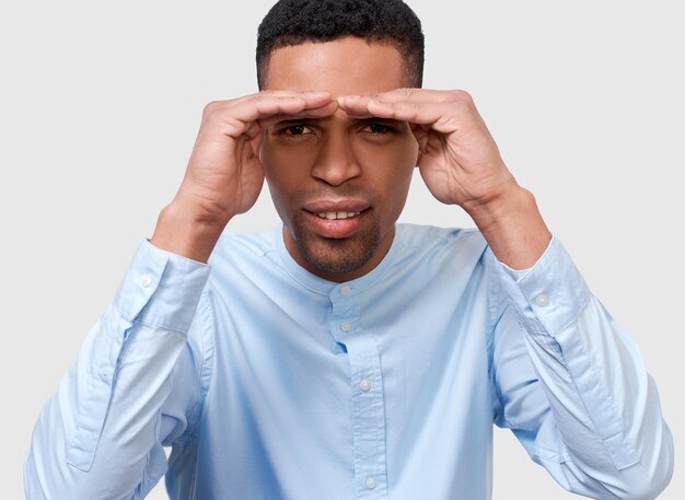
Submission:
[[[186,175],[43,409],[31,499],[487,499],[492,422],[566,489],[654,498],[671,433],[635,345],[471,96],[421,89],[399,1],[278,2],[258,94]],[[477,230],[396,224],[414,168]],[[223,233],[266,178],[282,226]],[[169,464],[163,446],[172,446]]]

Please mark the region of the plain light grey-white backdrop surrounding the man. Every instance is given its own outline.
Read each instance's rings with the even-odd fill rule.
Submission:
[[[40,407],[173,197],[202,106],[256,90],[256,28],[270,4],[0,7],[3,498],[22,498]],[[425,86],[472,93],[510,170],[641,347],[682,452],[680,2],[409,4],[427,37]],[[418,176],[400,220],[473,226]],[[265,188],[229,229],[277,221]],[[496,499],[571,498],[508,431],[496,431],[495,453]],[[661,498],[685,498],[681,476]],[[165,498],[162,487],[151,498]]]

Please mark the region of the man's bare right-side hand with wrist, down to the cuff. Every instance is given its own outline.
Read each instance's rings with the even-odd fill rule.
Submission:
[[[474,219],[499,260],[521,268],[542,255],[552,234],[532,194],[504,165],[467,92],[397,89],[337,101],[350,116],[408,121],[426,186],[438,200],[461,206]]]

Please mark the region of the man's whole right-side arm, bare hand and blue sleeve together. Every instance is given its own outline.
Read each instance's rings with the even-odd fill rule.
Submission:
[[[654,383],[507,168],[472,96],[396,89],[338,103],[348,114],[409,121],[426,186],[462,207],[488,242],[499,277],[491,290],[503,290],[494,299],[496,421],[571,491],[653,498],[673,467]],[[533,264],[518,281],[510,276]]]

